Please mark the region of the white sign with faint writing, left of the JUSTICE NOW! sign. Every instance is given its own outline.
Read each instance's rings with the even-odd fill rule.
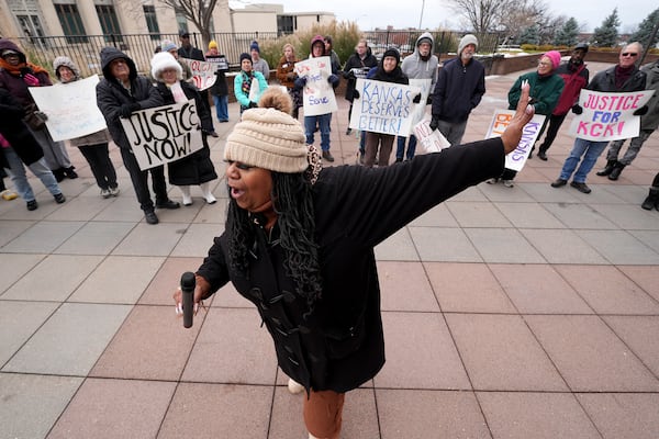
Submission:
[[[53,87],[30,87],[30,93],[41,111],[46,113],[46,126],[53,140],[66,140],[105,128],[105,119],[97,106],[98,75]]]

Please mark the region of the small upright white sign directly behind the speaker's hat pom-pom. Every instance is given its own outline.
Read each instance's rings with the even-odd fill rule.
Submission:
[[[306,78],[303,90],[305,116],[333,113],[338,109],[334,89],[327,82],[327,78],[332,75],[332,63],[328,56],[295,63],[294,70],[300,78]]]

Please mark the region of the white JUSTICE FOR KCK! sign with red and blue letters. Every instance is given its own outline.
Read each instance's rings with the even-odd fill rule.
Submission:
[[[606,142],[638,136],[640,117],[633,113],[645,105],[654,91],[611,93],[581,90],[583,113],[572,120],[569,133],[587,140]]]

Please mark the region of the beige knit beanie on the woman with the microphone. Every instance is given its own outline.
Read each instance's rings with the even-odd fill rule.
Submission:
[[[250,109],[226,138],[224,159],[271,171],[297,173],[309,167],[300,123],[275,109]]]

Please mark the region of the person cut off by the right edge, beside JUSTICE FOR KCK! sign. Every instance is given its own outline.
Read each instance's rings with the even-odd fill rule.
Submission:
[[[621,177],[621,172],[623,169],[636,158],[638,153],[640,151],[640,147],[645,143],[645,140],[650,137],[650,135],[657,130],[659,126],[659,60],[652,64],[648,64],[640,68],[640,71],[646,74],[646,90],[655,90],[655,94],[650,98],[650,101],[645,105],[645,109],[637,112],[640,114],[640,133],[638,136],[632,138],[629,140],[629,146],[627,147],[627,151],[623,156],[622,159],[618,160],[618,155],[621,153],[621,148],[625,143],[622,140],[614,140],[608,145],[608,153],[606,153],[606,164],[613,162],[613,169],[610,167],[604,168],[602,171],[597,172],[597,176],[606,176],[608,172],[608,180],[617,180]],[[645,111],[645,113],[643,113]]]

